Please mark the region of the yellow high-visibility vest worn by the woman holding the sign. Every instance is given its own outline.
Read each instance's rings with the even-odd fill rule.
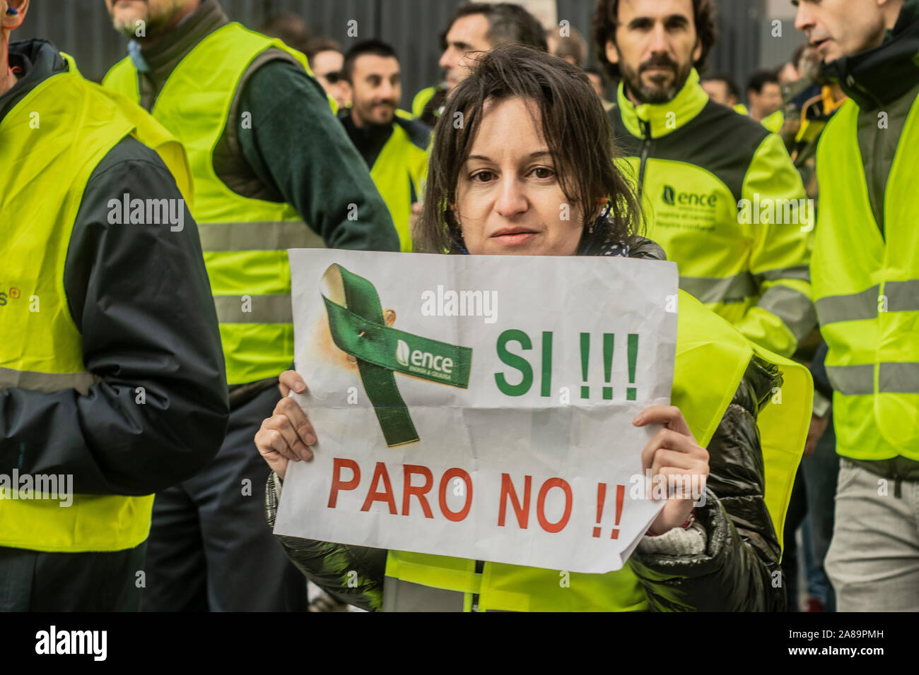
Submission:
[[[683,412],[698,444],[708,446],[731,403],[755,353],[775,364],[784,382],[759,413],[766,468],[766,506],[779,544],[791,487],[811,422],[813,386],[807,368],[752,345],[729,323],[703,308],[697,299],[680,292],[676,364],[672,403]],[[637,611],[648,607],[647,597],[629,565],[607,574],[569,573],[569,584],[559,583],[560,570],[528,568],[389,551],[383,608],[396,611],[455,609],[462,594],[463,609],[472,599],[478,609],[516,612]],[[399,582],[408,583],[399,583]],[[428,587],[425,595],[418,587]],[[396,598],[387,598],[395,590]]]

